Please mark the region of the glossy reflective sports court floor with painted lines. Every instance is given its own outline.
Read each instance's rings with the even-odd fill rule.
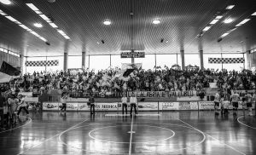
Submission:
[[[256,154],[256,119],[214,112],[41,112],[0,132],[0,154]]]

